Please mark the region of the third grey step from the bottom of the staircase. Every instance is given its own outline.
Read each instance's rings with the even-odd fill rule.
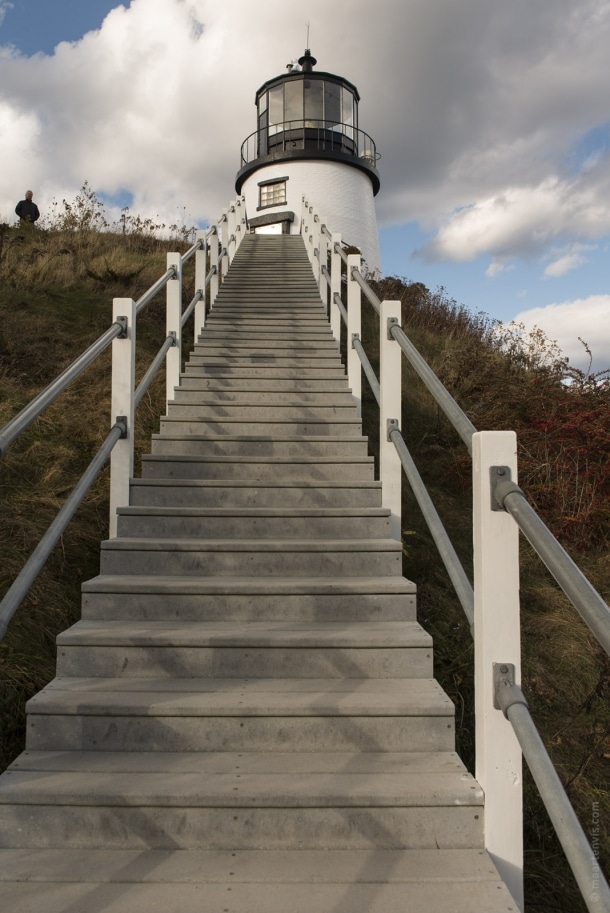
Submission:
[[[182,690],[165,681],[167,690],[163,679],[100,679],[87,690],[56,679],[28,704],[28,750],[453,750],[453,704],[432,679],[185,678]]]

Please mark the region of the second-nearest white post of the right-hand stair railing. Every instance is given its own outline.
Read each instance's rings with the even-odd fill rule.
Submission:
[[[390,336],[392,323],[400,326],[400,301],[382,301],[379,314],[379,478],[381,501],[391,511],[390,531],[402,537],[402,464],[389,438],[401,427],[402,352]]]

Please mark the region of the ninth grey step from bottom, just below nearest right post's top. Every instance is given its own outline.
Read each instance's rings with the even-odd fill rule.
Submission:
[[[349,462],[330,457],[203,457],[179,454],[143,454],[144,479],[243,479],[251,481],[311,480],[369,481],[375,464],[372,457]]]

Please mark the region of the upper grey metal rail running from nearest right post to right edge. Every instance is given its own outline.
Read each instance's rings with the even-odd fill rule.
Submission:
[[[511,515],[585,624],[610,655],[610,608],[540,519],[525,493],[507,477],[508,469],[500,469],[502,474],[492,479],[492,494],[498,509]]]

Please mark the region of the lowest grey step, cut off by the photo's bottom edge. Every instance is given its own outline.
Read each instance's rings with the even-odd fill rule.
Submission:
[[[201,913],[202,892],[208,910],[230,896],[231,913],[404,913],[405,896],[412,913],[515,909],[480,849],[2,850],[0,879],[23,913],[91,909],[92,896],[108,913]]]

